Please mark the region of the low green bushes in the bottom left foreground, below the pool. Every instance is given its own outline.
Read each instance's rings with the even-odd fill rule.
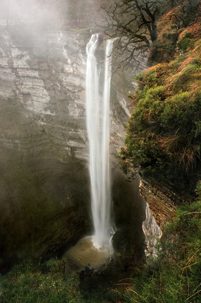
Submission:
[[[70,272],[66,259],[50,259],[47,262],[25,260],[14,266],[6,275],[0,276],[0,302],[107,303],[114,301],[115,294],[108,288],[99,284],[94,287],[93,277],[85,283],[87,270],[80,274],[74,273],[72,276]]]

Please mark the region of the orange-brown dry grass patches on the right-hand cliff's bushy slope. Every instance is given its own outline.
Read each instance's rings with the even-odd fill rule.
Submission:
[[[171,15],[172,12],[169,13]],[[167,16],[166,16],[167,17]],[[162,19],[162,24],[167,25],[167,19]],[[201,29],[201,24],[193,24],[184,30],[179,39],[183,39],[187,32],[196,33]],[[193,37],[194,38],[194,37]],[[189,102],[194,102],[195,96],[201,93],[201,39],[196,38],[193,49],[183,55],[183,60],[177,55],[171,63],[158,64],[147,70],[147,73],[155,72],[161,79],[162,85],[166,87],[166,93],[169,96],[180,94],[181,92],[189,93]],[[187,139],[185,134],[180,130],[175,134],[160,135],[157,137],[157,146],[165,153],[180,159],[180,162],[186,166],[186,169],[194,167],[197,159],[200,160],[200,146],[194,144],[191,139]]]

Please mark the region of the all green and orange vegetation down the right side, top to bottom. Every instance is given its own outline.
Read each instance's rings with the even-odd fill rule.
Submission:
[[[152,176],[177,193],[188,192],[188,198],[163,230],[158,258],[149,259],[138,277],[124,281],[123,289],[115,289],[121,302],[200,301],[200,181],[196,198],[190,188],[200,179],[201,23],[197,17],[181,29],[173,15],[171,11],[160,21],[158,45],[150,52],[149,60],[161,63],[136,77],[120,158],[126,174]]]

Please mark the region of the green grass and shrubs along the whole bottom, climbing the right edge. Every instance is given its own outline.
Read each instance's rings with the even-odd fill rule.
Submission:
[[[199,195],[200,184],[196,189]],[[1,277],[0,302],[198,303],[201,299],[200,219],[200,199],[179,207],[173,221],[163,230],[158,257],[147,259],[144,268],[133,277],[113,281],[112,288],[102,287],[98,283],[101,278],[94,273],[90,277],[70,276],[65,259],[43,263],[26,260]]]

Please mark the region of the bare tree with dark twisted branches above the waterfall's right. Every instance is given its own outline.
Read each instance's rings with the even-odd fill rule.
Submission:
[[[156,20],[167,0],[114,0],[101,5],[102,25],[107,35],[119,37],[116,56],[124,54],[121,63],[140,60],[158,38]],[[103,3],[103,1],[102,1]],[[137,59],[138,58],[138,59]]]

